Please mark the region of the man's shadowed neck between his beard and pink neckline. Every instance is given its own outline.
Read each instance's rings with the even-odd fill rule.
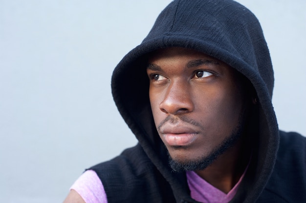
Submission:
[[[195,172],[206,182],[222,192],[228,193],[239,181],[249,162],[250,153],[248,151],[243,149],[240,141],[223,153],[210,166]]]

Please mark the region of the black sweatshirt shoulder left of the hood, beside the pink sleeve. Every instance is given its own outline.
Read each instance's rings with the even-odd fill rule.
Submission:
[[[139,145],[89,169],[103,183],[109,203],[173,202],[171,186]]]

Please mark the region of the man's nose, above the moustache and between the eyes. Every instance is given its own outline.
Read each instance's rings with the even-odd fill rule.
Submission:
[[[190,87],[184,82],[174,82],[168,86],[164,100],[159,104],[162,112],[172,115],[192,112],[194,103]]]

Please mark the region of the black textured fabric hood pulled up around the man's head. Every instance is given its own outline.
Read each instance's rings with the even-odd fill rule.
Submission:
[[[271,103],[273,69],[259,21],[247,8],[232,0],[174,0],[158,16],[144,41],[113,72],[112,94],[119,112],[153,164],[172,185],[174,193],[184,196],[187,194],[178,175],[168,166],[149,102],[146,56],[166,47],[203,52],[235,68],[253,84],[259,99],[258,150],[253,154],[254,164],[250,165],[254,167],[250,175],[252,183],[248,183],[247,191],[240,188],[237,195],[240,200],[243,196],[246,202],[255,201],[273,170],[279,144]]]

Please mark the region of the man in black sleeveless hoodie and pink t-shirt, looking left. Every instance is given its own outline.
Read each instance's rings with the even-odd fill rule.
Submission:
[[[249,10],[173,1],[112,76],[139,143],[89,168],[66,202],[305,202],[306,138],[278,130],[273,83]]]

